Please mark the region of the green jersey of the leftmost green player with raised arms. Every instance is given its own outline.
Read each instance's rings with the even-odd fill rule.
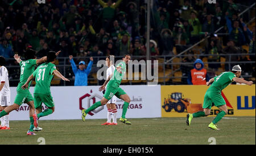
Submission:
[[[26,61],[20,61],[19,65],[20,65],[19,83],[25,84],[27,82],[28,77],[30,77],[30,75],[35,70],[36,60],[30,59]],[[30,87],[30,83],[28,84],[28,89]]]

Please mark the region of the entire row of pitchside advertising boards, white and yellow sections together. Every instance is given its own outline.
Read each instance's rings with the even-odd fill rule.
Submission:
[[[40,120],[81,119],[81,109],[88,108],[102,98],[103,94],[98,91],[99,87],[51,87],[55,112]],[[131,98],[127,118],[184,117],[188,112],[203,110],[204,94],[209,88],[204,85],[123,85],[121,87]],[[30,88],[30,92],[34,92],[34,87]],[[176,96],[180,95],[184,100],[184,111],[181,100],[171,99],[172,93]],[[15,96],[16,87],[11,87],[11,103],[14,102]],[[255,116],[255,85],[229,85],[222,91],[222,96],[228,107],[226,116]],[[178,104],[180,106],[177,106]],[[122,105],[122,100],[118,99],[118,117],[122,115]],[[43,109],[45,108],[43,104]],[[22,104],[19,109],[10,113],[10,120],[28,120],[28,109],[27,104]],[[106,106],[99,107],[86,116],[86,119],[106,119],[106,111]],[[210,116],[216,116],[217,113],[218,108],[212,107]]]

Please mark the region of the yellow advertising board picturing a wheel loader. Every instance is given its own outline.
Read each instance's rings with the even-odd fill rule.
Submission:
[[[203,111],[204,95],[209,86],[161,86],[162,117],[185,117],[187,113]],[[255,85],[229,85],[221,92],[228,108],[226,116],[255,116]],[[219,109],[212,107],[210,116]]]

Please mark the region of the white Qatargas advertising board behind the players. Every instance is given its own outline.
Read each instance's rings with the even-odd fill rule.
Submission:
[[[40,120],[69,120],[81,119],[81,109],[88,108],[94,102],[99,101],[103,94],[98,91],[100,86],[65,86],[51,87],[53,101],[55,102],[55,112],[42,117]],[[161,117],[160,85],[122,85],[123,90],[130,96],[131,102],[127,110],[127,118],[150,118]],[[30,87],[31,94],[34,87]],[[11,103],[16,96],[16,87],[11,87]],[[122,115],[122,100],[117,101],[117,116]],[[46,107],[43,104],[43,109]],[[19,109],[10,113],[10,120],[28,120],[28,106],[22,104]],[[102,106],[92,111],[86,119],[106,119],[106,106]]]

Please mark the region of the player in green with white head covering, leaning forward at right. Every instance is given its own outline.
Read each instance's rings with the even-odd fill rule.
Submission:
[[[217,128],[216,123],[222,119],[227,113],[228,113],[228,108],[226,107],[225,100],[221,96],[221,91],[226,88],[232,81],[238,82],[238,83],[245,83],[246,85],[253,85],[252,81],[245,81],[240,77],[241,75],[241,67],[239,65],[233,66],[232,71],[226,71],[224,73],[221,73],[217,77],[214,77],[207,82],[207,86],[210,85],[208,88],[207,92],[205,93],[204,96],[204,111],[199,111],[196,113],[188,113],[187,114],[187,125],[191,125],[191,120],[193,117],[202,117],[202,116],[208,116],[210,114],[210,108],[212,107],[212,104],[214,106],[218,107],[220,109],[220,112],[217,114],[215,119],[208,125],[210,129],[214,130],[219,130]]]

